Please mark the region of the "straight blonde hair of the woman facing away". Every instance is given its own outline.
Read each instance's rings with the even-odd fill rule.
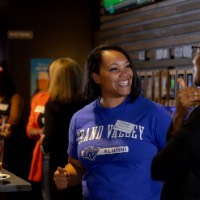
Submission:
[[[73,59],[64,57],[49,66],[49,95],[51,100],[62,103],[79,100],[82,87],[82,69]]]

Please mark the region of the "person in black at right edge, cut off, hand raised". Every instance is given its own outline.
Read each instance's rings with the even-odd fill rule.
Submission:
[[[186,87],[178,79],[181,90],[171,137],[152,161],[152,178],[164,181],[161,200],[200,199],[200,47],[193,48],[195,86]]]

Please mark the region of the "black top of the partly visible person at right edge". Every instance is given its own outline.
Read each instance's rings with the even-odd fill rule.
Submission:
[[[200,106],[155,156],[151,171],[164,181],[161,200],[200,200]]]

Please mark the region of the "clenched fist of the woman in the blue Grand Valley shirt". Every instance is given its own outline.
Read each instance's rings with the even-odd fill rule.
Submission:
[[[69,186],[69,174],[65,168],[58,167],[54,173],[54,182],[59,190],[66,189]]]

